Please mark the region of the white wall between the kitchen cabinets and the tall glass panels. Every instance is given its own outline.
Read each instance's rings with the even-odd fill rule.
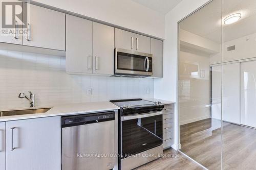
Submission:
[[[208,0],[183,0],[172,11],[165,15],[165,40],[163,58],[163,78],[154,82],[154,97],[164,100],[177,101],[177,47],[178,47],[178,21],[192,13]],[[179,145],[179,119],[177,107],[175,110],[174,149]]]

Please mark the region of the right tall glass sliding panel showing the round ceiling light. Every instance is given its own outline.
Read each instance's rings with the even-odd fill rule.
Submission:
[[[256,169],[256,1],[223,0],[222,169]]]

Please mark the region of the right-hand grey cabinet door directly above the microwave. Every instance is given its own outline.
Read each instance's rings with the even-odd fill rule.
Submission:
[[[135,46],[134,51],[150,54],[150,37],[135,34]]]

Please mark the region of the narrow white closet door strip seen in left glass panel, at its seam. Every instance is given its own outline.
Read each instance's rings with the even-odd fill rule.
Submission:
[[[211,118],[221,120],[221,66],[211,67]]]

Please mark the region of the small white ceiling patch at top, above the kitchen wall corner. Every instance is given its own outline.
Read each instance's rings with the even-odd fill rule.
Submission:
[[[166,14],[182,0],[132,0],[154,11]]]

